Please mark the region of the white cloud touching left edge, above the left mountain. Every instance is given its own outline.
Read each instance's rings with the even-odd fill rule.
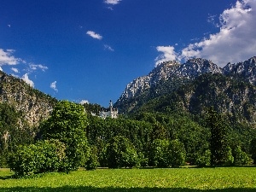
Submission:
[[[14,55],[12,55],[12,53],[14,53],[15,50],[14,49],[7,49],[7,50],[3,50],[0,49],[0,66],[3,65],[17,65],[20,63],[20,61],[22,61],[20,58],[15,58]]]

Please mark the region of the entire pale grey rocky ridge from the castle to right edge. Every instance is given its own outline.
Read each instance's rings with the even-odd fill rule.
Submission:
[[[212,61],[201,58],[190,59],[180,64],[177,61],[160,63],[147,76],[140,77],[127,84],[123,94],[114,104],[122,112],[130,112],[143,102],[164,95],[177,87],[188,84],[202,74],[218,73],[237,76],[243,80],[256,84],[256,57],[237,64],[227,64],[218,67]]]

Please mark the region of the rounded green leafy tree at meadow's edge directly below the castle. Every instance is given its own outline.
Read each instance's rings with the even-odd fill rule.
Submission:
[[[107,147],[109,168],[137,166],[137,151],[125,137],[117,136],[110,140]]]

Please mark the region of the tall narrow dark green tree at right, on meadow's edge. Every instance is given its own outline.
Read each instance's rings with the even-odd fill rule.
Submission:
[[[207,126],[211,130],[211,165],[228,166],[233,163],[234,158],[228,144],[227,132],[224,120],[213,107],[207,112]]]

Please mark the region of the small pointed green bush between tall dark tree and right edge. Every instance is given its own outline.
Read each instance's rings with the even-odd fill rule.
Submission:
[[[234,165],[236,166],[244,166],[252,163],[252,159],[247,155],[247,153],[241,150],[240,146],[236,146],[233,150],[234,156]]]

